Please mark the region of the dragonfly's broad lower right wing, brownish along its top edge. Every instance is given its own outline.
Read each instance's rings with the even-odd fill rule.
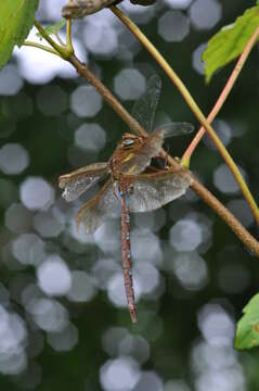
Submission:
[[[127,176],[126,176],[127,177]],[[128,176],[130,179],[130,176]],[[192,177],[183,168],[132,176],[131,212],[154,211],[183,195]]]

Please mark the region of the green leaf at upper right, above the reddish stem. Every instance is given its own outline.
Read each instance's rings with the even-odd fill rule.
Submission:
[[[206,83],[213,73],[239,55],[259,25],[259,5],[248,9],[234,24],[223,27],[208,42],[203,54]]]

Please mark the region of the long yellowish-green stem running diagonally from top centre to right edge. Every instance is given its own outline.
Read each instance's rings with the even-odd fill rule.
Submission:
[[[169,79],[174,84],[174,86],[178,88],[180,93],[182,94],[183,99],[196,116],[196,118],[199,121],[199,123],[205,127],[207,130],[209,137],[211,138],[212,142],[217,147],[219,153],[221,154],[222,159],[228,164],[229,168],[231,169],[232,174],[234,175],[250,210],[254,214],[254,217],[259,225],[259,209],[256,204],[256,201],[254,197],[250,193],[250,190],[248,189],[242,174],[239,173],[236,164],[234,163],[233,159],[226,151],[224,144],[221,142],[212,127],[207,122],[206,117],[202,113],[200,109],[194,101],[193,97],[182,83],[182,80],[178,77],[176,72],[171,68],[171,66],[168,64],[168,62],[164,59],[164,56],[158,52],[158,50],[155,48],[155,46],[146,38],[146,36],[140,30],[140,28],[129,18],[127,17],[117,7],[111,5],[112,12],[127,26],[127,28],[135,36],[135,38],[143,45],[143,47],[151,53],[151,55],[156,60],[156,62],[159,64],[159,66],[163,68],[163,71],[166,73],[166,75],[169,77]]]

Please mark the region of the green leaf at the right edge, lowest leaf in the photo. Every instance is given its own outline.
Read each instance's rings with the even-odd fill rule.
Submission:
[[[235,335],[235,348],[241,350],[259,345],[259,293],[251,298],[243,313]]]

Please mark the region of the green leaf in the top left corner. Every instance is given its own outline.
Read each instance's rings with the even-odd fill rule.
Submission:
[[[39,0],[0,1],[0,68],[10,59],[14,45],[21,47],[34,25]]]

